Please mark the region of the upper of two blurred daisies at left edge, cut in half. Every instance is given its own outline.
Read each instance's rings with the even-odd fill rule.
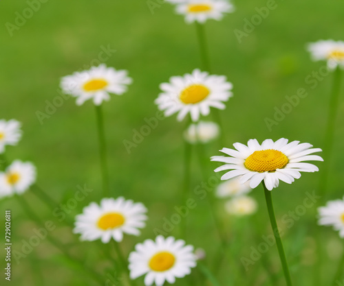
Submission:
[[[0,154],[5,152],[6,145],[17,145],[21,139],[21,123],[11,119],[0,120]]]

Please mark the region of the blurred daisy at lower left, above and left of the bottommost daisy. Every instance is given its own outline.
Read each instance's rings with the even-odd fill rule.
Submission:
[[[140,202],[134,203],[125,198],[105,198],[100,205],[92,202],[76,216],[74,233],[80,233],[80,239],[94,241],[101,239],[108,243],[111,238],[120,242],[123,233],[140,235],[138,228],[144,228],[147,220],[147,208]]]

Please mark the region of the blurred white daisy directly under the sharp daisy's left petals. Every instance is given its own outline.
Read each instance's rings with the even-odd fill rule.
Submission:
[[[248,182],[241,184],[239,182],[239,178],[233,178],[219,184],[216,189],[216,195],[218,198],[226,198],[237,195],[245,195],[251,190],[252,189],[250,188],[250,184]]]

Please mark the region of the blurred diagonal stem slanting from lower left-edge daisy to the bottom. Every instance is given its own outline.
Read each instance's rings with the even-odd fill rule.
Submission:
[[[30,208],[28,203],[25,202],[25,200],[21,197],[21,195],[17,195],[17,200],[21,204],[23,210],[27,213],[28,217],[30,217],[30,219],[32,219],[34,222],[36,222],[36,224],[38,224],[39,226],[44,228],[45,227],[44,223],[32,211],[32,209]],[[94,270],[92,270],[92,268],[87,267],[82,261],[79,261],[78,259],[75,259],[74,257],[72,257],[69,254],[68,250],[65,249],[65,246],[63,246],[63,244],[60,241],[57,241],[56,239],[54,239],[54,237],[52,237],[50,235],[47,235],[47,240],[50,241],[50,243],[52,243],[54,246],[56,246],[56,248],[58,248],[58,250],[60,250],[65,255],[65,257],[67,257],[71,261],[74,261],[75,263],[78,263],[80,265],[80,269],[85,270],[85,274],[87,274],[90,278],[93,278],[94,281],[97,281],[100,285],[103,285],[104,281],[100,278],[100,275],[97,274],[96,272],[94,272]]]

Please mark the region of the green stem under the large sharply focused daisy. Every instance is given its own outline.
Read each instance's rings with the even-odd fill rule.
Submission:
[[[264,187],[264,194],[265,194],[265,199],[266,199],[266,206],[268,207],[268,213],[270,217],[270,223],[272,227],[272,233],[275,236],[276,239],[276,244],[277,244],[277,250],[279,252],[279,259],[281,259],[281,264],[283,268],[283,273],[286,278],[286,283],[288,286],[292,286],[292,279],[290,278],[290,272],[289,272],[289,267],[288,267],[288,262],[286,259],[286,254],[284,253],[283,249],[283,243],[281,239],[281,235],[279,234],[279,228],[277,226],[276,222],[276,217],[275,217],[275,211],[274,211],[274,206],[272,204],[272,196],[271,196],[271,191],[266,189],[266,185],[264,182],[262,182],[263,187]]]

